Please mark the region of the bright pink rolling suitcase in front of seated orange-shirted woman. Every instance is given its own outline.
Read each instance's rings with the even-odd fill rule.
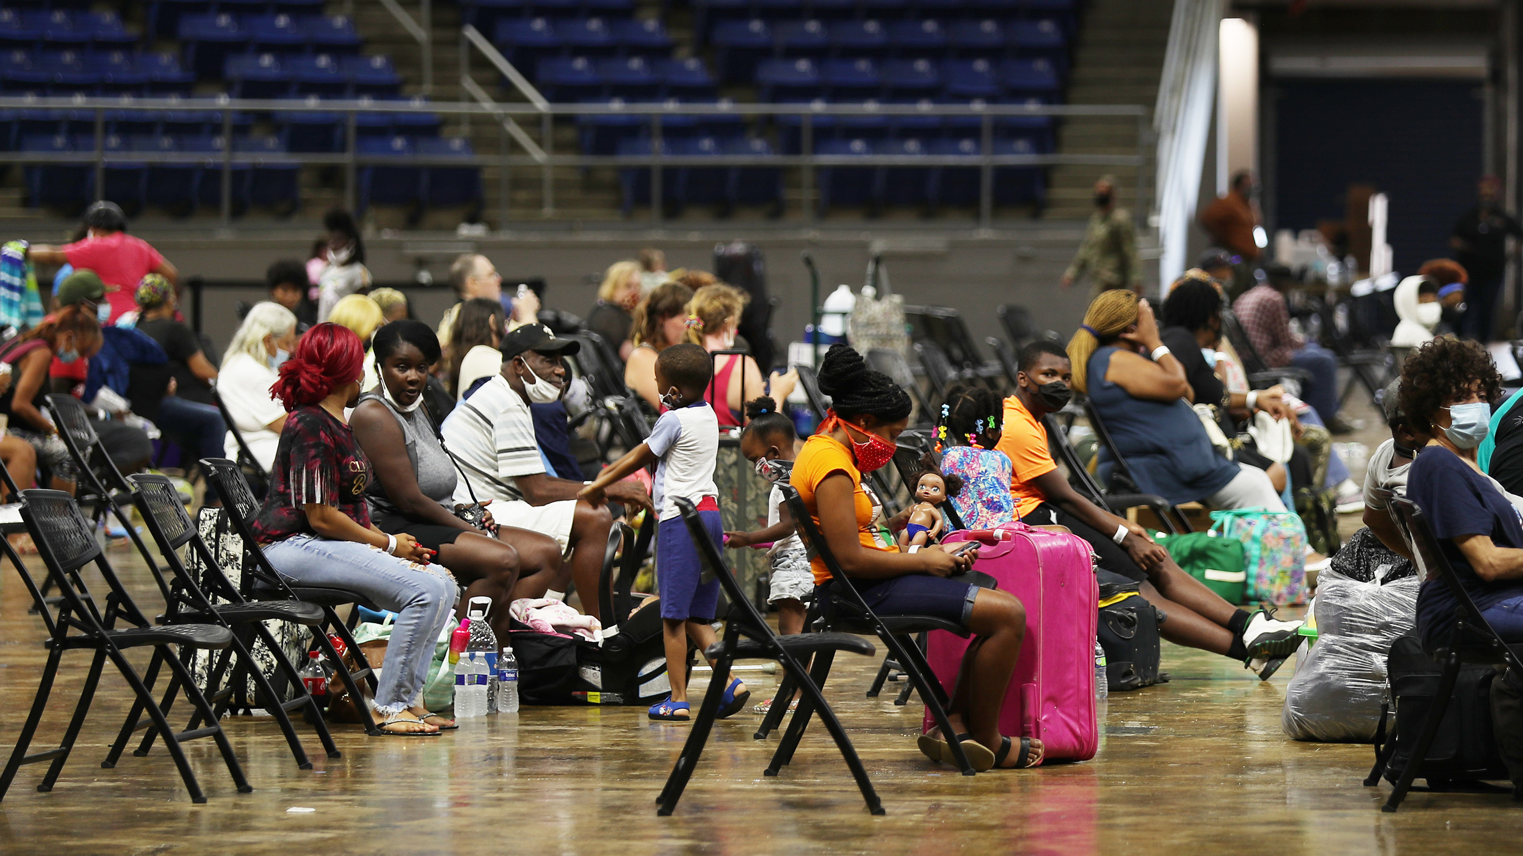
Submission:
[[[995,530],[953,532],[943,541],[979,541],[979,570],[1014,594],[1027,608],[1027,637],[1010,678],[999,731],[1007,737],[1036,737],[1046,760],[1083,762],[1100,748],[1095,720],[1095,621],[1100,589],[1094,551],[1077,535],[1048,532],[1023,522]],[[946,687],[969,640],[946,631],[928,637],[926,660]],[[929,731],[934,725],[926,711]]]

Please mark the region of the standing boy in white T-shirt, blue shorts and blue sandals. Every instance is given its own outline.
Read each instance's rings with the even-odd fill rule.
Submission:
[[[714,460],[719,455],[719,419],[704,401],[704,390],[714,369],[708,352],[696,344],[673,344],[656,356],[656,390],[667,411],[656,419],[650,436],[588,483],[577,493],[592,504],[603,503],[609,484],[637,469],[656,463],[653,500],[656,507],[656,586],[661,596],[661,631],[666,641],[667,679],[672,695],[650,705],[650,719],[687,722],[687,640],[707,652],[714,644],[714,609],[719,606],[719,580],[701,582],[704,562],[678,512],[682,497],[698,507],[708,538],[722,544],[719,487],[714,486]],[[713,661],[710,661],[713,663]],[[730,681],[719,716],[733,716],[751,693],[739,678]]]

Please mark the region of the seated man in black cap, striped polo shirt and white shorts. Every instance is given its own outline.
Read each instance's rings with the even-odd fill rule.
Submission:
[[[582,481],[556,478],[545,472],[530,404],[560,398],[567,385],[562,356],[580,344],[556,338],[544,324],[524,324],[503,338],[503,372],[483,384],[445,419],[443,436],[449,454],[460,462],[465,481],[455,487],[457,503],[492,500],[492,516],[503,527],[527,529],[556,539],[562,554],[570,554],[545,597],[564,599],[567,580],[582,592],[582,611],[599,614],[597,585],[603,570],[603,550],[614,519],[606,504],[577,500]],[[638,483],[621,481],[608,489],[608,498],[626,506],[650,509],[650,497]],[[512,532],[498,535],[519,551]],[[519,597],[533,592],[515,591]]]

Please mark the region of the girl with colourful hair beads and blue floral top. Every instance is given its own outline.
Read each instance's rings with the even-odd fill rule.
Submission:
[[[1004,405],[984,387],[952,387],[941,405],[941,474],[961,478],[963,489],[947,490],[967,529],[993,529],[1016,516],[1010,493],[1010,458],[999,443]]]

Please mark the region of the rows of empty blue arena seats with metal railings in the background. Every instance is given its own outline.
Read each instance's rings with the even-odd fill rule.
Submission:
[[[1106,58],[1083,34],[1129,0],[433,0],[413,27],[379,2],[151,0],[123,5],[125,23],[82,6],[0,0],[0,94],[120,99],[0,110],[0,146],[23,164],[9,183],[30,206],[102,192],[177,215],[402,206],[414,225],[632,216],[659,195],[656,219],[1081,216],[1080,178],[1135,166],[1054,164],[1132,157],[1142,123],[1042,108],[1080,91],[1151,101],[1107,99],[1086,70]],[[481,91],[461,70],[500,105],[527,101],[463,24],[582,113],[507,128],[445,108]],[[224,96],[265,104],[221,110]],[[177,101],[133,108],[145,99]],[[367,108],[338,104],[353,99]]]

